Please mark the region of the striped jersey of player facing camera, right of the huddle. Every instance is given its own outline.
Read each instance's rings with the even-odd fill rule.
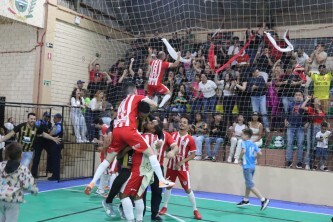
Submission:
[[[167,167],[168,169],[175,170],[176,164],[186,159],[189,155],[191,155],[191,153],[195,152],[197,148],[195,146],[193,137],[190,136],[189,134],[186,134],[185,136],[180,136],[179,132],[174,132],[172,134],[172,138],[177,143],[179,147],[179,152],[174,158],[169,160]],[[188,162],[183,164],[179,169],[179,171],[188,171],[188,170],[189,170]]]

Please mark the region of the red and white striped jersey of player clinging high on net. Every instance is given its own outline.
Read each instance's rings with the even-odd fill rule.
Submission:
[[[169,62],[163,62],[160,59],[152,60],[150,62],[151,70],[148,79],[148,85],[157,86],[162,84],[164,72],[169,68],[169,66]]]

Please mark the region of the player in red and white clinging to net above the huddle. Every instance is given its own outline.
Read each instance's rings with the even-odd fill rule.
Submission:
[[[165,95],[162,99],[162,102],[159,105],[159,109],[163,109],[162,107],[168,102],[168,100],[171,98],[171,91],[166,87],[164,84],[162,84],[163,76],[165,73],[165,70],[168,68],[175,68],[179,65],[180,55],[181,53],[178,52],[178,57],[175,63],[170,63],[164,61],[166,58],[166,55],[164,52],[159,52],[157,55],[157,59],[152,59],[152,49],[148,49],[148,62],[150,65],[150,74],[148,79],[148,87],[147,87],[147,95],[152,98],[154,94],[162,94]],[[154,101],[157,100],[157,96],[155,95]]]

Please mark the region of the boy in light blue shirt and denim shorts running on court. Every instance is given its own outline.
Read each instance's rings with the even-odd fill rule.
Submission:
[[[257,155],[262,155],[261,149],[253,143],[250,138],[253,132],[251,129],[242,130],[242,152],[240,158],[243,159],[243,175],[245,179],[245,196],[241,202],[237,204],[238,207],[243,207],[250,204],[249,196],[250,192],[256,195],[261,201],[261,209],[265,210],[269,204],[269,199],[265,198],[253,183],[253,175],[255,172],[255,160]]]

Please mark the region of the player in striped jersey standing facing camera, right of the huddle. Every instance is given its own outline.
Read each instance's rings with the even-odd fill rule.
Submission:
[[[175,140],[179,147],[178,154],[169,159],[167,165],[166,177],[170,178],[172,182],[175,182],[177,177],[180,180],[181,186],[188,195],[188,198],[193,207],[194,217],[197,220],[201,220],[202,217],[196,207],[196,200],[194,193],[191,189],[189,164],[188,162],[195,157],[195,141],[187,132],[189,130],[189,120],[187,117],[180,119],[179,132],[174,132],[172,138]],[[171,195],[171,188],[167,188],[164,193],[164,206],[160,210],[160,215],[165,215],[168,208],[168,202]]]

